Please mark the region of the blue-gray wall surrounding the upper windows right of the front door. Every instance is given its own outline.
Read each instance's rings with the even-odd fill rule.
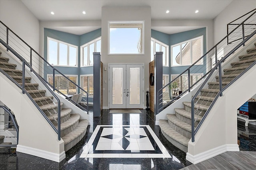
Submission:
[[[171,45],[181,43],[183,41],[187,41],[189,39],[193,39],[199,36],[203,35],[203,46],[204,46],[204,54],[206,53],[206,28],[200,28],[200,29],[194,29],[190,31],[185,31],[181,33],[175,33],[175,34],[166,34],[162,33],[156,30],[151,30],[151,37],[154,39],[157,39],[158,41],[161,41],[165,43],[166,45],[169,45],[169,67],[163,67],[163,74],[180,74],[186,68],[189,66],[172,66],[171,67]],[[196,66],[195,66],[196,67]],[[198,66],[198,68],[194,69],[192,67],[192,72],[191,73],[201,73],[204,72],[206,73],[206,57],[204,57],[204,65]]]

